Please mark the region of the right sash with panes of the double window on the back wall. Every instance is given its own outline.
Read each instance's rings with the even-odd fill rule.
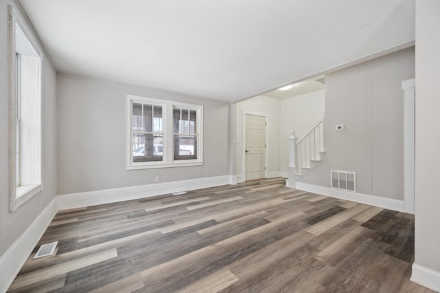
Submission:
[[[173,109],[174,160],[197,159],[197,112]]]

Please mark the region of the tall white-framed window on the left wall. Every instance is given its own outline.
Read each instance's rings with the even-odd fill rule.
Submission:
[[[40,193],[43,190],[43,182],[41,180],[41,64],[43,61],[43,50],[39,45],[36,37],[32,33],[28,23],[18,14],[12,6],[8,6],[8,18],[9,18],[9,186],[10,186],[10,211],[17,210],[21,204],[27,202],[34,195]],[[24,36],[24,38],[23,38]],[[17,41],[19,41],[19,46],[17,46]],[[21,44],[25,42],[24,47],[30,48],[32,54],[23,54],[19,52]],[[18,55],[17,55],[18,54]],[[22,160],[20,146],[21,140],[21,118],[17,113],[20,113],[20,107],[17,95],[20,94],[21,88],[21,78],[23,78],[20,72],[19,62],[20,56],[32,56],[36,58],[36,76],[32,74],[28,75],[31,78],[36,78],[34,80],[36,86],[36,92],[32,94],[32,110],[36,111],[32,113],[34,118],[32,121],[32,131],[28,132],[28,135],[32,135],[32,144],[25,144],[25,146],[32,153],[32,160]],[[32,63],[29,63],[32,64]],[[20,77],[17,75],[20,74]],[[19,88],[20,87],[20,88]],[[30,109],[30,107],[28,107]],[[31,162],[32,161],[32,162]],[[20,166],[17,166],[20,164]],[[21,184],[17,178],[23,175],[22,172],[26,174],[32,173],[30,177],[31,180],[27,184]],[[31,171],[29,171],[31,170]]]

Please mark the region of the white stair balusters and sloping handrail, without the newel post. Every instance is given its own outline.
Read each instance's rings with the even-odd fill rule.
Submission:
[[[312,126],[302,138],[296,141],[296,173],[310,169],[312,161],[320,161],[324,152],[324,117]]]

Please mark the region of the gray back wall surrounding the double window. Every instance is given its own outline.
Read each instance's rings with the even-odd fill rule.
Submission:
[[[126,171],[126,94],[203,105],[203,166]],[[58,73],[58,194],[229,175],[226,102]]]

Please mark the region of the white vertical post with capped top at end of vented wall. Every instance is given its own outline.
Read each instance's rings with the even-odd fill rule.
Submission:
[[[406,213],[415,213],[415,79],[403,80],[404,90],[404,199]]]

